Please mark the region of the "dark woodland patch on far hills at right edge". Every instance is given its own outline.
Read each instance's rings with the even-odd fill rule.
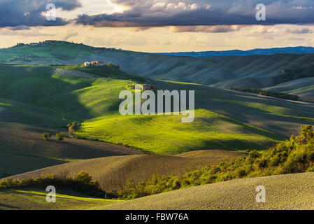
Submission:
[[[284,73],[279,76],[273,76],[271,80],[273,84],[285,83],[299,78],[314,77],[314,65],[307,66],[303,69],[285,69]]]

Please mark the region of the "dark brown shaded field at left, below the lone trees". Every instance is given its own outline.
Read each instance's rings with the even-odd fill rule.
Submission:
[[[0,123],[0,178],[77,160],[139,154],[127,147],[83,139],[43,141],[43,132],[57,130]]]

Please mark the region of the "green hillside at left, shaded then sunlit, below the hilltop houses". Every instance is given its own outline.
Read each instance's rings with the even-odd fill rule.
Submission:
[[[80,70],[79,67],[77,69]],[[50,66],[2,64],[0,97],[53,110],[55,114],[50,114],[50,117],[58,118],[59,123],[62,122],[62,113],[66,118],[80,121],[117,108],[116,94],[124,90],[131,81],[110,78],[115,74],[117,78],[132,77],[112,67],[103,67],[100,77],[84,76],[80,71],[74,71],[74,75],[64,74],[62,69],[55,70]],[[0,106],[6,110],[12,108],[5,102]]]

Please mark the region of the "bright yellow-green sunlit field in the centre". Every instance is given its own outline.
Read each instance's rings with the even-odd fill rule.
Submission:
[[[83,123],[77,134],[159,154],[262,149],[276,139],[271,133],[211,111],[198,109],[195,115],[193,123],[181,123],[181,116],[105,116]]]

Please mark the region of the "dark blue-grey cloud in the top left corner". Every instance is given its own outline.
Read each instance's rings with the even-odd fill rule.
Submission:
[[[66,25],[68,22],[62,18],[46,20],[43,13],[48,3],[54,3],[56,8],[62,10],[73,10],[81,6],[78,0],[0,0],[0,27]]]

